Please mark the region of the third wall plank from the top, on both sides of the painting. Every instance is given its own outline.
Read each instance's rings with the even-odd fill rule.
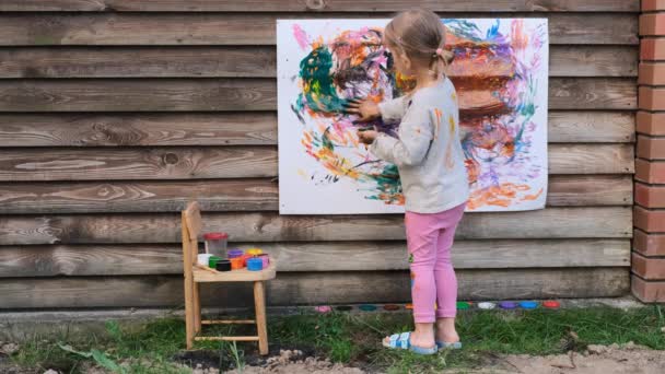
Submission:
[[[0,48],[0,78],[275,78],[275,47]],[[550,77],[637,77],[628,46],[557,46]],[[455,63],[455,62],[453,62]]]

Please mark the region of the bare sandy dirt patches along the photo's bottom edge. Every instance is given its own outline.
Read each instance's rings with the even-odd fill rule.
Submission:
[[[2,374],[60,374],[54,370],[16,367],[0,351],[0,373]],[[230,374],[362,374],[376,373],[349,367],[317,359],[299,350],[281,350],[265,361],[249,361],[242,371],[233,370]],[[177,360],[176,360],[177,361]],[[220,370],[211,367],[200,360],[192,363],[194,374],[219,374]],[[201,363],[202,362],[202,363]],[[185,366],[185,365],[183,365]],[[450,370],[444,373],[525,373],[525,374],[662,374],[665,373],[665,351],[654,351],[632,343],[619,347],[590,346],[585,352],[568,354],[532,357],[526,354],[487,357],[481,367]],[[104,373],[90,367],[88,374]]]

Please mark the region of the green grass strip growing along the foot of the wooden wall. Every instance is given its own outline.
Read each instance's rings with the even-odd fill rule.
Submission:
[[[458,331],[465,349],[434,357],[381,348],[382,337],[407,331],[407,314],[302,314],[276,316],[268,324],[273,347],[314,349],[335,362],[368,365],[388,373],[428,373],[450,367],[471,367],[488,355],[501,353],[550,354],[586,344],[611,344],[633,341],[653,349],[665,349],[665,316],[660,306],[628,312],[609,307],[529,312],[475,311],[458,318]],[[232,327],[211,326],[211,334],[232,332]],[[246,328],[246,327],[245,327]],[[242,332],[235,330],[235,332]],[[573,338],[574,337],[574,338]],[[139,331],[126,331],[116,323],[106,324],[104,336],[83,339],[35,338],[24,342],[12,357],[18,364],[58,369],[77,373],[92,363],[117,367],[126,373],[187,373],[173,358],[184,349],[185,328],[179,319],[164,318],[149,323]],[[69,344],[73,351],[57,343]],[[201,342],[197,348],[213,352],[220,366],[242,365],[243,350],[254,344]],[[93,354],[94,353],[94,354]],[[114,366],[114,364],[116,366]],[[108,365],[108,366],[107,366]]]

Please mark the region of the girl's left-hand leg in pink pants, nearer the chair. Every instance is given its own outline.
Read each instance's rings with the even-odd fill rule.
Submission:
[[[439,241],[436,221],[436,214],[406,213],[407,246],[411,262],[411,299],[416,323],[411,343],[418,347],[434,346],[434,303],[436,302],[434,264]]]

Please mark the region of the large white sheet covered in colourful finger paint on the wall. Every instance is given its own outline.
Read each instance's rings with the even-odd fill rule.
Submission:
[[[404,212],[397,167],[357,130],[395,137],[399,124],[345,114],[358,97],[408,94],[381,44],[388,20],[278,21],[282,214]],[[471,197],[467,211],[541,209],[547,195],[547,20],[442,20]]]

